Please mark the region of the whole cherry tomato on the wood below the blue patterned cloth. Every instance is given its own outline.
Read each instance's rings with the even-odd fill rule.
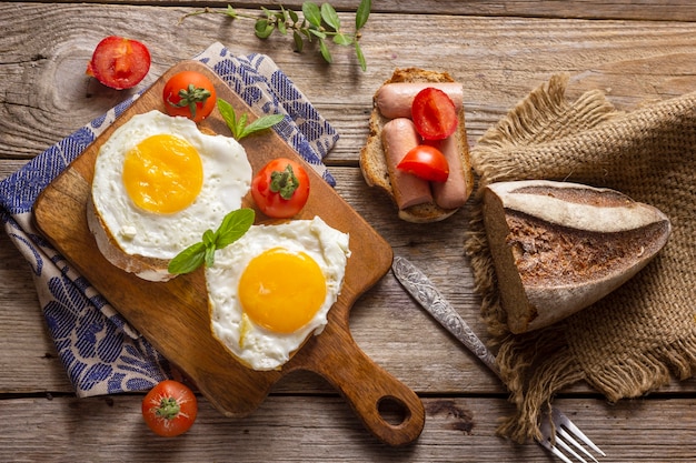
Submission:
[[[178,381],[157,384],[142,400],[142,417],[158,435],[173,437],[187,432],[198,414],[193,392]]]

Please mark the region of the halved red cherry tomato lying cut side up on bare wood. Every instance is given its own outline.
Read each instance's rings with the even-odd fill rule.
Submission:
[[[136,87],[150,70],[150,51],[131,39],[109,36],[97,44],[87,76],[116,90]]]

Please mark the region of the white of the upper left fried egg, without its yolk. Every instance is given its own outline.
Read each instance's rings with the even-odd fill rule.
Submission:
[[[171,214],[136,205],[122,180],[126,154],[142,140],[161,133],[180,137],[193,145],[203,168],[203,184],[196,200]],[[206,230],[216,230],[225,214],[241,207],[251,174],[245,149],[235,139],[201,133],[187,118],[150,111],[133,115],[99,150],[92,200],[125,253],[168,260],[200,241]]]

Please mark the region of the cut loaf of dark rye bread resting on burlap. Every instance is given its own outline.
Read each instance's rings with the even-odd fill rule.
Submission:
[[[667,243],[669,219],[608,189],[493,183],[484,223],[513,333],[550,325],[633,278]]]

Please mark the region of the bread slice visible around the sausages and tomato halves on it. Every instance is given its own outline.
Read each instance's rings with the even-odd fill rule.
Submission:
[[[429,71],[419,68],[406,68],[396,69],[391,78],[386,80],[384,84],[396,82],[455,82],[455,80],[447,72]],[[458,117],[459,124],[457,125],[455,137],[457,138],[457,143],[459,145],[459,155],[461,159],[461,167],[464,169],[464,178],[466,180],[466,197],[468,198],[474,190],[474,173],[471,171],[471,161],[469,158],[464,107],[459,111]],[[385,118],[379,112],[377,107],[374,105],[369,120],[369,134],[367,142],[360,151],[360,171],[362,172],[362,177],[368,185],[384,191],[396,204],[381,141],[381,129],[387,122],[389,122],[389,119]],[[407,222],[427,223],[445,220],[458,210],[459,208],[443,209],[435,203],[424,203],[399,210],[398,215],[399,219]]]

